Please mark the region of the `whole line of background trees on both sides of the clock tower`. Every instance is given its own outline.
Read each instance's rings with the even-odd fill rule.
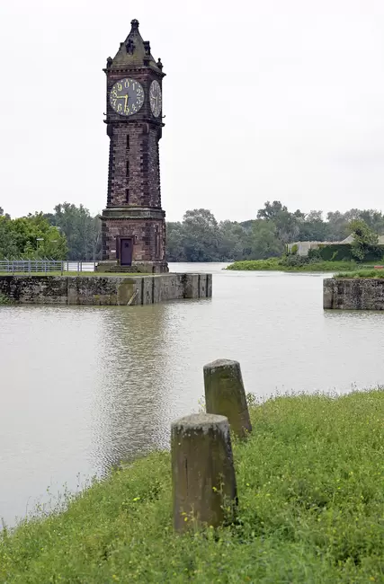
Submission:
[[[341,241],[354,220],[374,234],[384,234],[384,216],[374,209],[345,213],[289,211],[281,201],[267,201],[255,218],[217,221],[208,209],[186,211],[182,221],[168,222],[168,261],[263,260],[280,256],[286,243]],[[57,205],[52,213],[12,219],[0,207],[0,259],[38,258],[97,261],[102,254],[101,221],[83,205]]]

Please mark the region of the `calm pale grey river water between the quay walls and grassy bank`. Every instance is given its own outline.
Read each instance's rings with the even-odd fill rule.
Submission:
[[[214,358],[237,358],[246,391],[263,397],[384,383],[384,314],[325,313],[318,274],[221,268],[177,267],[214,271],[212,299],[0,307],[0,517],[23,516],[49,485],[75,489],[77,473],[167,447]]]

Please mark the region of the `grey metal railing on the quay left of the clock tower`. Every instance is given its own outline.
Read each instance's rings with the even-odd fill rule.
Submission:
[[[49,272],[89,272],[94,271],[96,261],[58,260],[1,260],[0,273],[49,273]]]

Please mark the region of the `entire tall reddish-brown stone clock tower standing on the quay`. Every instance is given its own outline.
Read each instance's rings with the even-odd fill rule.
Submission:
[[[162,121],[163,65],[142,40],[138,21],[115,58],[107,59],[110,137],[107,207],[102,215],[99,271],[168,271],[165,211],[161,208],[158,142]]]

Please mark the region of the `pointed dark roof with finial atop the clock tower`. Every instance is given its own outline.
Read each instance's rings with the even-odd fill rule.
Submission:
[[[151,55],[151,49],[148,40],[143,40],[138,31],[138,21],[135,19],[130,22],[131,29],[128,37],[121,42],[120,49],[113,59],[108,58],[108,69],[137,68],[141,66],[150,66],[155,68],[159,73],[163,68],[160,59],[157,63]]]

